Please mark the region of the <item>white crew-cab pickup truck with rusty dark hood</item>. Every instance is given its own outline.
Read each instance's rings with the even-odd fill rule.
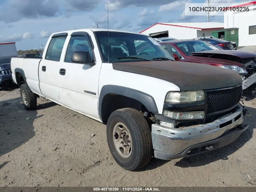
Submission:
[[[106,124],[111,154],[127,170],[146,166],[151,157],[217,149],[248,128],[237,72],[174,61],[147,35],[54,33],[42,58],[12,58],[11,69],[26,109],[36,109],[41,96]]]

